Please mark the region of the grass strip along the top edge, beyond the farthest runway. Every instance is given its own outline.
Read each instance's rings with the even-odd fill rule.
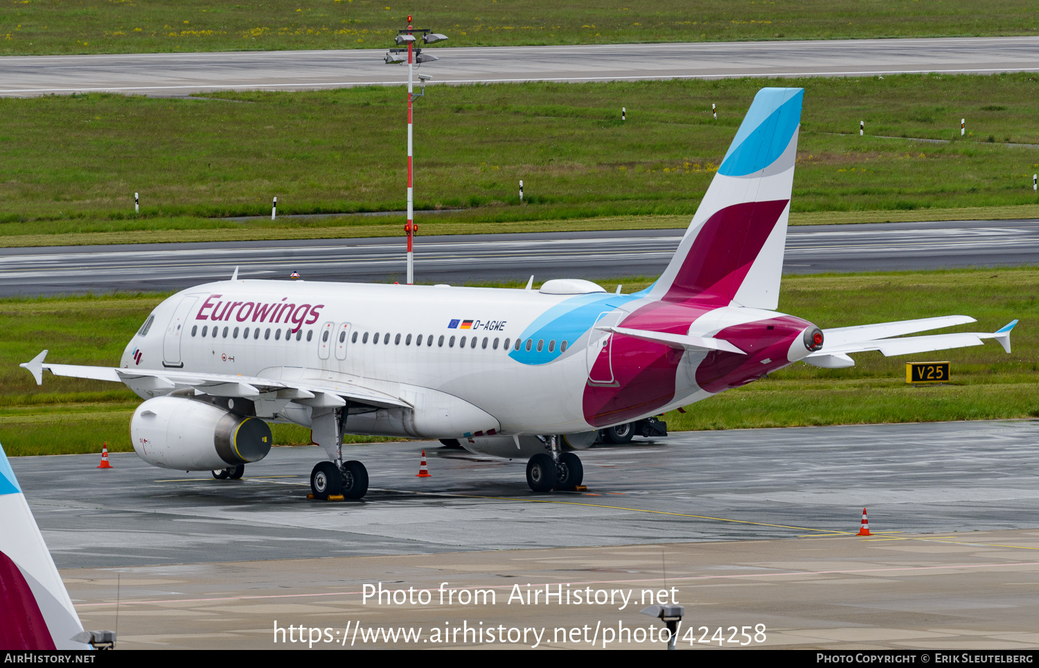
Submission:
[[[392,44],[408,12],[452,46],[1035,34],[1039,9],[1000,0],[3,0],[0,54],[362,49]]]

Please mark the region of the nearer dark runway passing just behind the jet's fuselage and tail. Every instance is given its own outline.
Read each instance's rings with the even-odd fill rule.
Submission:
[[[416,280],[656,276],[678,230],[418,237]],[[224,279],[404,280],[400,238],[0,249],[0,296],[180,290]],[[792,226],[785,273],[1039,264],[1039,220]]]

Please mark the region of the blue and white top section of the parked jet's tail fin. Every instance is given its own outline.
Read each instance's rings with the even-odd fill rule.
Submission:
[[[803,88],[762,88],[736,133],[718,173],[744,177],[776,161],[801,123]]]

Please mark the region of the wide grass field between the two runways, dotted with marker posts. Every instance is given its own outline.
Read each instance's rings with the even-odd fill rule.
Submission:
[[[464,211],[418,219],[688,218],[754,92],[769,84],[806,90],[795,213],[1039,204],[1039,145],[1009,145],[1039,144],[1039,75],[530,83],[434,87],[419,102],[417,206]],[[396,224],[218,217],[269,215],[275,194],[283,214],[402,210],[401,95],[0,99],[0,237],[249,230],[269,238]],[[871,135],[899,138],[859,137],[860,119]]]

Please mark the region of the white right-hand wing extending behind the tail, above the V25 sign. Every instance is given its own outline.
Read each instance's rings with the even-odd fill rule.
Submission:
[[[883,322],[860,327],[838,327],[824,329],[822,350],[816,351],[804,358],[804,362],[817,367],[840,369],[852,367],[855,360],[850,353],[879,350],[884,356],[906,355],[914,352],[930,352],[932,350],[949,350],[980,346],[983,339],[995,339],[1003,349],[1010,352],[1010,330],[1017,321],[1014,320],[993,332],[969,331],[947,335],[927,335],[923,337],[905,337],[894,339],[903,333],[926,331],[955,324],[975,322],[967,316],[944,316],[941,318],[923,318],[920,320],[903,320],[901,322]],[[878,336],[879,335],[879,336]]]

